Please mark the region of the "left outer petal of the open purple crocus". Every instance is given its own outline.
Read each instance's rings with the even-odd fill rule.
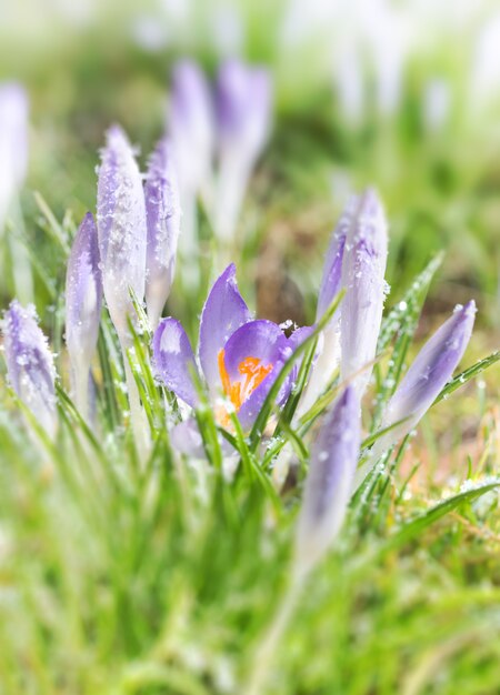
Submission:
[[[152,351],[158,379],[182,401],[196,407],[198,394],[191,370],[198,370],[191,343],[179,321],[168,318],[160,322],[154,331]]]

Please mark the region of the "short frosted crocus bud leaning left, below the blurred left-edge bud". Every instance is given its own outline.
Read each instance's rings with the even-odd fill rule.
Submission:
[[[3,314],[7,374],[18,396],[52,434],[56,429],[56,370],[47,338],[38,325],[34,306],[14,300]]]

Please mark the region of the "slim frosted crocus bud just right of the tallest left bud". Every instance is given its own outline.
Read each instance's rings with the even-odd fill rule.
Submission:
[[[171,147],[161,140],[151,155],[144,185],[148,250],[146,259],[146,304],[156,329],[172,286],[180,203]]]

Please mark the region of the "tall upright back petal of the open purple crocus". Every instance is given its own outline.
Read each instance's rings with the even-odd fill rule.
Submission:
[[[251,320],[236,280],[236,266],[228,265],[216,280],[204,303],[200,322],[199,355],[210,391],[220,390],[219,352],[229,336]]]

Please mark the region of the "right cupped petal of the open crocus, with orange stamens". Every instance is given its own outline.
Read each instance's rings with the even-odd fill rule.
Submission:
[[[226,343],[223,364],[227,381],[221,385],[233,402],[243,430],[252,426],[292,350],[280,326],[271,321],[250,321]],[[278,395],[278,403],[287,399],[291,385],[289,376]]]

